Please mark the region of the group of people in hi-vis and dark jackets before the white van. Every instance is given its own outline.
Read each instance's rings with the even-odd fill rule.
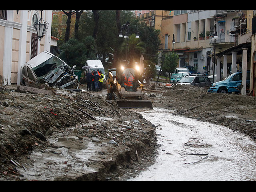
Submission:
[[[86,72],[85,74],[87,82],[87,91],[102,91],[102,84],[104,79],[104,74],[102,71],[98,70]]]

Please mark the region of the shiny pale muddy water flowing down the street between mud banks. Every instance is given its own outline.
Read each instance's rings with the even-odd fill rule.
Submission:
[[[137,111],[156,126],[156,163],[129,181],[255,181],[256,144],[224,126],[172,111]]]

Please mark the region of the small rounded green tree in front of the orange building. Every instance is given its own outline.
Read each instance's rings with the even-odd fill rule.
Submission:
[[[177,67],[179,61],[179,56],[176,52],[169,52],[164,54],[164,63],[162,66],[162,70],[167,73],[172,73]]]

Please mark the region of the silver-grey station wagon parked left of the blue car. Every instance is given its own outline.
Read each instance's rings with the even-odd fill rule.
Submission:
[[[211,86],[210,79],[204,74],[190,75],[182,77],[178,84],[194,85],[198,87]]]

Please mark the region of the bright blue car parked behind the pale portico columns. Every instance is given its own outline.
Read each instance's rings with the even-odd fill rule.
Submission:
[[[242,71],[236,72],[227,76],[223,81],[215,82],[208,89],[210,93],[239,93],[242,84]],[[250,71],[247,71],[246,84],[250,84]]]

